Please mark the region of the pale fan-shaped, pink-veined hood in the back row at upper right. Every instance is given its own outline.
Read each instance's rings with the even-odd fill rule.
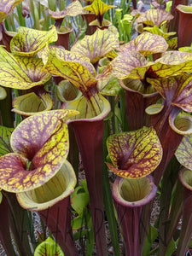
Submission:
[[[147,26],[161,26],[165,20],[172,20],[173,16],[163,9],[148,9],[142,13],[136,20],[137,23],[143,23]]]

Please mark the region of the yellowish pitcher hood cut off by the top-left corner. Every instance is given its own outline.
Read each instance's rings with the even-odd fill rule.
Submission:
[[[12,9],[15,8],[23,0],[1,0],[0,2],[0,22],[9,15]]]

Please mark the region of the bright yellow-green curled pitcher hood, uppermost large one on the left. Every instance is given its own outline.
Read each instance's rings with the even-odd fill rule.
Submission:
[[[55,26],[52,26],[48,32],[23,26],[18,27],[17,30],[18,33],[10,43],[10,49],[15,55],[32,57],[47,44],[57,40]]]

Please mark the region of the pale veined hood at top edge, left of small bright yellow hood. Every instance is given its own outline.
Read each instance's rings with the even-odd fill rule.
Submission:
[[[81,15],[83,12],[83,7],[79,3],[79,1],[73,1],[72,3],[68,4],[67,7],[62,11],[52,11],[49,9],[49,15],[54,20],[63,19],[66,16],[75,17],[77,15]]]

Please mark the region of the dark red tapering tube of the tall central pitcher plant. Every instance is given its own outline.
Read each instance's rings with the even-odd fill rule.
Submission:
[[[107,255],[103,215],[103,119],[79,119],[71,122],[82,157],[87,186],[90,194],[90,212],[95,231],[98,255]]]

